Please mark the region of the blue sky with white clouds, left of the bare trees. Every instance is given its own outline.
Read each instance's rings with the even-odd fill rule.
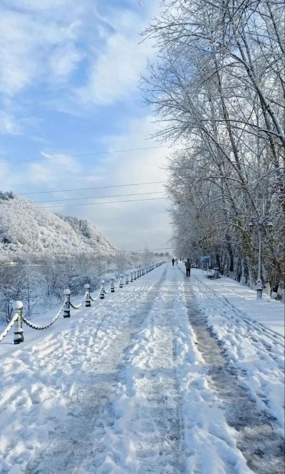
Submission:
[[[0,189],[27,193],[165,179],[161,166],[167,148],[24,161],[159,145],[146,141],[156,126],[138,89],[147,58],[155,58],[151,42],[140,44],[139,33],[159,4],[2,0]],[[19,162],[3,163],[13,160]],[[158,184],[27,197],[42,201],[161,190]],[[166,205],[160,200],[54,211],[88,219],[120,248],[139,249],[146,243],[165,246],[171,234]]]

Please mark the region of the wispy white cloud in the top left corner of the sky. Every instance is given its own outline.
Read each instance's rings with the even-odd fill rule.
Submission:
[[[76,16],[78,10],[73,2],[72,14],[65,13],[66,8],[57,11],[52,2],[45,3],[46,8],[50,7],[45,15],[36,14],[34,10],[18,12],[3,5],[0,8],[0,91],[9,96],[29,85],[34,86],[35,81],[46,76],[63,76],[64,65],[64,74],[68,77],[80,60],[75,46],[80,12]],[[59,3],[63,7],[66,2]],[[62,58],[61,63],[59,61],[61,51],[67,55],[65,63]]]

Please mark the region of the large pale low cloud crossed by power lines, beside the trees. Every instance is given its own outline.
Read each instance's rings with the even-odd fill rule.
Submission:
[[[104,137],[104,144],[112,150],[160,146],[154,140],[145,140],[155,132],[151,117],[131,119],[124,124],[126,133],[114,137]],[[165,144],[163,144],[165,145]],[[166,144],[167,145],[167,144]],[[98,167],[90,171],[92,176],[100,181],[98,185],[128,184],[166,180],[166,172],[162,169],[166,164],[168,148],[122,152],[114,155],[104,155]],[[163,191],[163,184],[130,186],[108,190],[107,194],[128,194],[138,192]],[[103,192],[106,190],[103,190]],[[114,198],[114,201],[129,199],[147,199],[162,197],[163,194],[149,194],[134,197]],[[108,199],[105,201],[112,201]],[[165,247],[165,242],[171,236],[169,216],[165,210],[167,201],[138,201],[128,203],[104,204],[102,206],[82,207],[80,213],[85,219],[107,233],[115,245],[125,250],[140,250],[147,243],[150,248]],[[91,209],[90,209],[91,208]],[[69,212],[66,209],[65,212]],[[72,208],[71,208],[72,212]],[[76,211],[78,212],[78,210]],[[136,248],[134,248],[134,246]]]

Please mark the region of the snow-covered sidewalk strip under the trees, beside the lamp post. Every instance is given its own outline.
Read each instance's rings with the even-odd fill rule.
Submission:
[[[285,306],[263,294],[263,299],[256,299],[256,291],[241,285],[230,278],[221,277],[209,280],[206,272],[191,270],[192,274],[214,292],[222,295],[235,308],[277,333],[285,336]]]

